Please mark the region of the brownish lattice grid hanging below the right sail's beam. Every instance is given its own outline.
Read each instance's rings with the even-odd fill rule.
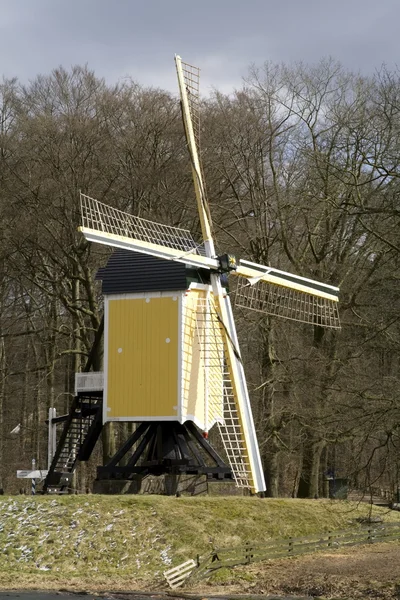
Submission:
[[[340,329],[338,303],[299,290],[258,281],[239,283],[235,306],[300,323]]]

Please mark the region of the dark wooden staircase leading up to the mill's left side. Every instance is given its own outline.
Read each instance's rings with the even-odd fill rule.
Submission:
[[[76,462],[89,460],[103,428],[102,407],[102,392],[78,394],[69,414],[52,420],[52,425],[64,423],[64,428],[43,484],[44,493],[64,492],[70,486]]]

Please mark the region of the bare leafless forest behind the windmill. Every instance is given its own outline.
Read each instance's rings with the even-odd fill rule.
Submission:
[[[236,312],[270,496],[326,474],[395,489],[400,471],[400,75],[331,59],[265,63],[202,104],[217,246],[339,285],[342,330]],[[0,488],[47,466],[102,317],[110,250],[77,232],[79,191],[200,240],[177,95],[87,67],[0,84]],[[101,369],[101,356],[94,359]],[[17,432],[11,433],[17,428]],[[79,467],[84,490],[103,449]]]

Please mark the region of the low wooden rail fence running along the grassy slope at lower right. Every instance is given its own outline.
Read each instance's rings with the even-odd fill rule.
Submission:
[[[233,548],[214,548],[205,556],[197,557],[197,567],[187,579],[207,577],[222,567],[248,565],[252,562],[299,556],[319,550],[334,550],[346,546],[373,544],[400,539],[400,523],[363,526],[357,530],[328,531],[307,537],[271,540],[263,544],[247,542]]]

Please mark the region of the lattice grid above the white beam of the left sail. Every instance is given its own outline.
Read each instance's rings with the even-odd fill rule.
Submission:
[[[199,247],[190,231],[135,217],[90,196],[80,194],[82,226],[87,229],[132,238],[182,252]]]

